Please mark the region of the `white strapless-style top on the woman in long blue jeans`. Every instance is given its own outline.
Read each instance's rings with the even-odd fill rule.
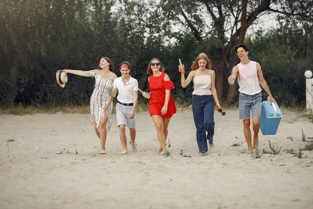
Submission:
[[[195,75],[196,72],[194,71]],[[208,72],[209,74],[209,72]],[[194,76],[192,78],[193,81],[193,92],[192,95],[211,95],[212,92],[210,90],[211,88],[211,76],[210,75],[199,75]]]

